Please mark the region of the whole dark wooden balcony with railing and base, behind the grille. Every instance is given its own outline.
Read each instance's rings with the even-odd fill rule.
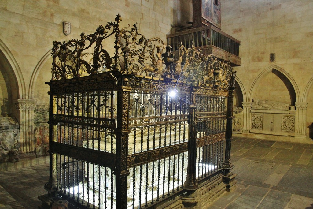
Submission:
[[[186,48],[192,44],[203,50],[206,55],[214,55],[218,59],[228,60],[232,66],[240,66],[239,45],[241,41],[224,33],[213,25],[190,29],[175,34],[167,35],[167,43],[172,46],[172,51],[178,50],[182,43]]]

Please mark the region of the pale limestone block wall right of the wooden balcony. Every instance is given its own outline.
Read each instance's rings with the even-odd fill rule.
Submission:
[[[242,41],[242,65],[236,67],[242,102],[261,98],[295,105],[296,137],[288,140],[308,143],[307,127],[313,123],[312,9],[310,0],[221,1],[222,30]],[[275,53],[273,62],[270,53]],[[249,119],[245,106],[244,118]],[[244,127],[249,132],[249,121]]]

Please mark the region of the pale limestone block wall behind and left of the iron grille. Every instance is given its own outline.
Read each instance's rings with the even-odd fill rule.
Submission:
[[[32,153],[38,136],[34,124],[36,105],[49,102],[52,41],[80,38],[114,21],[120,13],[121,27],[135,24],[147,38],[166,40],[177,22],[172,0],[0,0],[0,117],[14,116],[21,129],[20,153]],[[63,21],[71,33],[63,34]],[[108,45],[110,53],[110,46]],[[44,137],[39,137],[44,138]]]

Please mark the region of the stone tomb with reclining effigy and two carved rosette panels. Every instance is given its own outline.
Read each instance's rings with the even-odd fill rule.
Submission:
[[[250,133],[295,136],[295,106],[252,99]]]

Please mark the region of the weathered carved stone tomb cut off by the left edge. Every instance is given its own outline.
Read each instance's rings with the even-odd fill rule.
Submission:
[[[16,162],[19,149],[19,124],[13,117],[0,118],[0,162]]]

